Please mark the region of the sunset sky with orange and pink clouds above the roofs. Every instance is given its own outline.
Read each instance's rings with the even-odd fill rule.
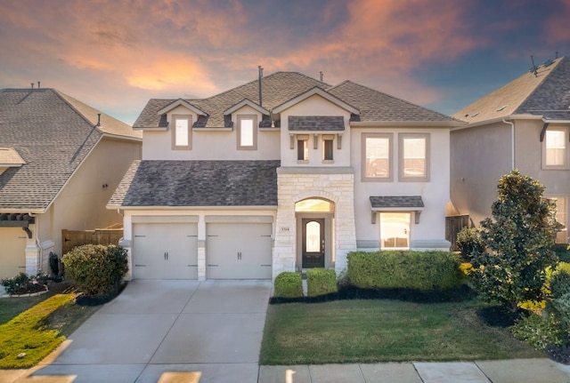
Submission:
[[[133,124],[275,71],[451,115],[570,55],[570,0],[2,0],[0,88],[41,81]],[[37,85],[36,85],[37,86]]]

